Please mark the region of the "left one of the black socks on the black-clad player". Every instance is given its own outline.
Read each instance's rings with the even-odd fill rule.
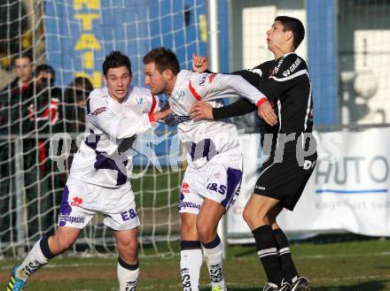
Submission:
[[[277,259],[277,240],[271,226],[260,226],[252,232],[256,250],[269,283],[280,286],[283,280]]]

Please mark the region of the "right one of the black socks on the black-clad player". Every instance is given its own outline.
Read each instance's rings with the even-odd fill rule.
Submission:
[[[292,282],[292,279],[298,276],[298,272],[295,269],[294,263],[292,262],[292,256],[287,238],[285,237],[285,233],[280,228],[275,229],[274,234],[277,238],[277,250],[279,253],[278,257],[280,269],[282,270],[285,279],[289,282]]]

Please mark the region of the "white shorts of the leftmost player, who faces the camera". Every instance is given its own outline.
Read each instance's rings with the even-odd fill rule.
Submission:
[[[128,184],[121,188],[105,188],[68,179],[62,194],[58,226],[84,228],[96,213],[103,214],[103,223],[113,230],[139,226],[134,193]]]

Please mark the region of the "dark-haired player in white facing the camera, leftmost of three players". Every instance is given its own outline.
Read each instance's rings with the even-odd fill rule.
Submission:
[[[136,290],[139,219],[129,183],[131,159],[126,150],[135,134],[164,119],[150,90],[130,85],[131,63],[113,51],[103,63],[104,88],[90,93],[86,104],[86,138],[74,156],[58,215],[58,229],[35,242],[20,265],[12,269],[7,291],[23,290],[37,269],[71,247],[95,213],[113,229],[118,247],[120,291]]]

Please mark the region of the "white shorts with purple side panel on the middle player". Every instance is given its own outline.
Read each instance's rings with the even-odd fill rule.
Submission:
[[[205,198],[221,203],[228,211],[237,199],[241,178],[242,155],[237,152],[218,154],[199,169],[187,167],[178,211],[198,215]]]

